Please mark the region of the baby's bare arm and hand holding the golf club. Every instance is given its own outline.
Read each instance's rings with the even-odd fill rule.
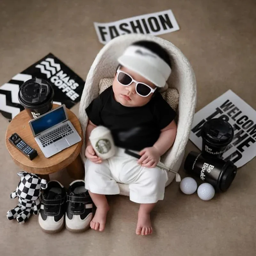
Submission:
[[[172,147],[176,137],[176,132],[177,125],[173,120],[161,130],[160,136],[153,147],[144,148],[140,151],[141,157],[138,160],[138,164],[148,168],[156,167],[156,164],[160,160],[160,156],[162,156],[169,148]]]

